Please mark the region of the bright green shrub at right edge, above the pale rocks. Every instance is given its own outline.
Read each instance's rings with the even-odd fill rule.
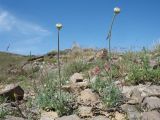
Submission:
[[[153,69],[150,67],[150,57],[148,55],[148,51],[143,49],[143,51],[139,53],[139,59],[141,64],[132,63],[126,82],[129,84],[139,84],[145,82],[160,84],[160,68]]]

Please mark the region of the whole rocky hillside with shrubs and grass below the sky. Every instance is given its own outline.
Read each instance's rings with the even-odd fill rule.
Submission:
[[[111,62],[106,49],[65,50],[60,79],[57,52],[0,55],[0,119],[160,120],[159,47],[112,52]]]

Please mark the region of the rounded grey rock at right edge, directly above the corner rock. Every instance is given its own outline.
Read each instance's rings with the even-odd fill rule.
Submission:
[[[142,103],[142,107],[148,110],[159,109],[160,108],[160,98],[146,97]]]

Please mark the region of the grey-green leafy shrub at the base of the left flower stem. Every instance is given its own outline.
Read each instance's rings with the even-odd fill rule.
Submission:
[[[43,86],[38,91],[36,102],[44,110],[53,110],[60,116],[69,115],[73,112],[72,103],[74,96],[68,92],[59,89],[58,74],[52,73],[45,80]]]

